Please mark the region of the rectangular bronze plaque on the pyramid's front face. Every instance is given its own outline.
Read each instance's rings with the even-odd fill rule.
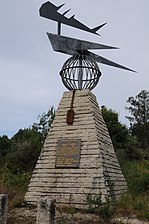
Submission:
[[[60,139],[57,142],[56,168],[79,168],[80,139]]]

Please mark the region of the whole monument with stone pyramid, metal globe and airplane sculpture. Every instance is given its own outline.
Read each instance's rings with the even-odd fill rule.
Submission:
[[[71,55],[60,71],[68,91],[63,94],[56,111],[25,201],[37,204],[45,197],[56,199],[59,206],[84,209],[88,207],[88,195],[100,193],[103,201],[107,197],[116,200],[127,191],[106,124],[91,92],[101,76],[97,63],[133,70],[89,51],[116,47],[62,36],[61,24],[96,35],[105,25],[90,29],[75,16],[67,18],[68,11],[60,14],[58,10],[62,6],[46,2],[40,8],[40,16],[58,22],[57,34],[47,33],[54,51]]]

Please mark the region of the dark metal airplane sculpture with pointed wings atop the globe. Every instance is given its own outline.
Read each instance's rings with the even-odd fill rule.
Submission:
[[[70,18],[65,17],[66,13],[70,11],[70,9],[65,11],[63,14],[60,14],[58,10],[63,5],[64,4],[60,6],[55,6],[51,2],[46,2],[39,9],[40,16],[58,22],[58,34],[56,35],[52,33],[47,33],[54,51],[69,54],[69,55],[74,55],[75,53],[81,53],[81,54],[92,57],[95,61],[99,63],[125,69],[131,72],[136,72],[123,65],[117,64],[104,57],[96,55],[88,50],[88,49],[118,49],[117,47],[112,47],[112,46],[93,43],[89,41],[74,39],[74,38],[70,38],[66,36],[61,36],[61,23],[90,32],[92,34],[96,34],[96,35],[99,35],[96,32],[106,24],[106,23],[103,23],[93,29],[90,29],[89,27],[85,26],[83,23],[76,20],[74,18],[74,15]]]

